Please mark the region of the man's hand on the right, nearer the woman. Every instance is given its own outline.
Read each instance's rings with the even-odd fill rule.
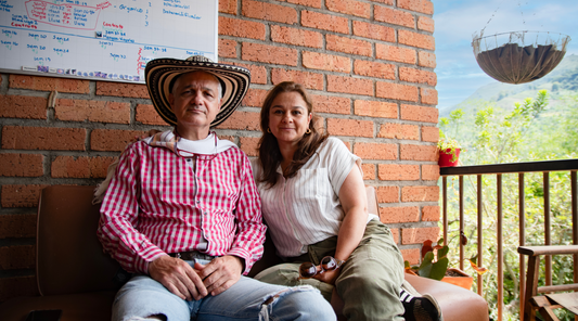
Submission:
[[[195,264],[198,275],[210,295],[223,293],[241,279],[243,260],[236,256],[226,255],[213,259],[208,265]]]

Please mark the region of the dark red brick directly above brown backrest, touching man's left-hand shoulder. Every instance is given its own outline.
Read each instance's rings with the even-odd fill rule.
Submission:
[[[115,158],[56,156],[50,171],[53,178],[106,178],[106,170]]]

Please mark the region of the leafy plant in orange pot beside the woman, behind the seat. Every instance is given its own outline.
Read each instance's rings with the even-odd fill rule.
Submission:
[[[406,272],[471,290],[474,278],[460,269],[448,268],[449,247],[441,244],[444,244],[444,239],[440,239],[436,244],[426,240],[422,245],[422,264],[410,266],[409,261],[406,261]]]

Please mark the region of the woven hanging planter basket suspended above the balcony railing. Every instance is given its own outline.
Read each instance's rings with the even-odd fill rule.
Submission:
[[[472,41],[479,67],[493,79],[525,84],[554,69],[566,53],[570,37],[540,31],[475,36]]]

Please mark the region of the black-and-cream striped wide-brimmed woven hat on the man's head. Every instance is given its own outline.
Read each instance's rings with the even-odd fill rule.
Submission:
[[[246,68],[215,63],[202,55],[193,55],[187,60],[152,60],[144,69],[146,88],[156,112],[168,124],[177,126],[177,117],[168,101],[174,79],[182,74],[198,70],[215,75],[222,86],[222,106],[210,127],[218,126],[231,116],[247,93],[251,72]]]

